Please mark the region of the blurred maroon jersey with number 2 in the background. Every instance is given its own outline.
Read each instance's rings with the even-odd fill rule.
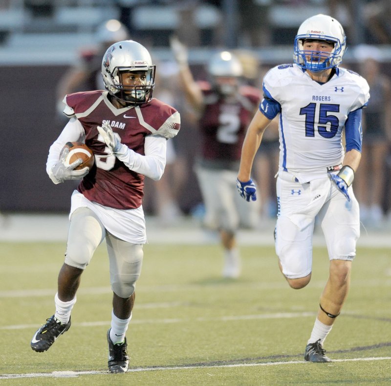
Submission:
[[[239,161],[246,130],[255,114],[261,92],[241,87],[237,94],[222,98],[203,82],[205,107],[199,120],[202,157],[205,161],[227,164]],[[208,162],[210,163],[210,162]]]

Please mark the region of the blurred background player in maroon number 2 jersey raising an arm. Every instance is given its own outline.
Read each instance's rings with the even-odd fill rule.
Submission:
[[[171,47],[186,98],[199,118],[201,154],[195,172],[205,205],[204,224],[219,231],[224,249],[223,276],[236,278],[241,268],[236,233],[240,225],[256,225],[260,203],[252,202],[246,207],[237,200],[232,178],[239,170],[246,127],[261,93],[240,84],[243,68],[233,53],[214,55],[207,64],[210,82],[196,82],[189,68],[187,48],[175,37]]]

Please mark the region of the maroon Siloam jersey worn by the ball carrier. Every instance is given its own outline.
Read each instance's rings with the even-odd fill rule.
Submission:
[[[145,137],[173,137],[179,130],[179,113],[171,106],[152,99],[140,106],[116,109],[107,91],[76,92],[66,95],[66,104],[86,132],[86,145],[94,152],[95,165],[80,182],[78,190],[88,200],[117,209],[137,208],[142,203],[144,176],[130,170],[110,154],[97,126],[109,121],[114,133],[130,149],[145,155]],[[73,113],[73,114],[72,114]],[[103,156],[103,157],[100,157]]]

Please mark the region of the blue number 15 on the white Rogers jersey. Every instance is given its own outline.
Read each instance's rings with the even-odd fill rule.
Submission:
[[[300,115],[305,115],[305,136],[315,136],[315,115],[316,109],[319,106],[319,122],[318,132],[324,138],[332,138],[337,134],[339,127],[339,119],[336,115],[327,114],[328,112],[339,113],[339,105],[329,103],[309,103],[307,106],[300,109]],[[327,123],[330,124],[330,129],[327,130]]]

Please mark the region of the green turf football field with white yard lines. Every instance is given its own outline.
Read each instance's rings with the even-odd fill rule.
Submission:
[[[327,277],[325,249],[314,250],[311,283],[292,290],[273,247],[241,247],[242,276],[223,280],[218,245],[146,245],[127,374],[107,370],[104,246],[82,276],[70,330],[47,352],[31,350],[54,313],[64,249],[0,243],[0,385],[391,384],[389,249],[357,250],[348,300],[325,344],[335,362],[317,364],[303,354]]]

